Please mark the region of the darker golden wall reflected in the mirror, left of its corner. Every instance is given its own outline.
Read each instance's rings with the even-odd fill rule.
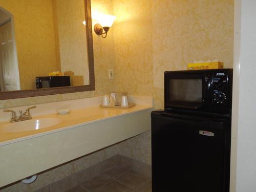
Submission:
[[[14,17],[20,88],[35,89],[35,76],[59,70],[52,0],[0,0],[0,7]]]

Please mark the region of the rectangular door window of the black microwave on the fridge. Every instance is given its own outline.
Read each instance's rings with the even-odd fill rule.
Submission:
[[[182,102],[202,102],[202,79],[170,79],[169,99]]]

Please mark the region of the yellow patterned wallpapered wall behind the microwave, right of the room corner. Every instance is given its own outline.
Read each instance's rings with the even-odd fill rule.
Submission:
[[[233,0],[113,0],[115,83],[163,108],[163,73],[195,60],[233,63]]]

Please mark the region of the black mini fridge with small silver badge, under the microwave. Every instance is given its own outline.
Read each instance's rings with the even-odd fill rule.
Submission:
[[[151,116],[153,192],[229,191],[230,119]]]

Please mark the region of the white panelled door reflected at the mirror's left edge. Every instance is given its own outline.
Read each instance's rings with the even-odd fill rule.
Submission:
[[[18,67],[15,62],[15,49],[11,21],[0,26],[0,88],[1,91],[20,90]]]

